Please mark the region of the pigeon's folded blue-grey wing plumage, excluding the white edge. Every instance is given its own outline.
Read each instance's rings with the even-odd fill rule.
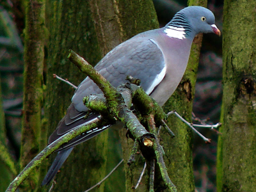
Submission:
[[[139,78],[147,92],[151,82],[164,68],[162,51],[150,40],[150,34],[134,36],[118,45],[99,61],[95,69],[115,87],[125,83],[127,75]],[[92,92],[101,93],[99,87],[87,77],[72,97],[72,103],[78,111],[86,110],[83,97]]]

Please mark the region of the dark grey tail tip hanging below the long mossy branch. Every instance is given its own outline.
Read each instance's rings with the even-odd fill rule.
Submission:
[[[61,150],[58,152],[57,156],[55,157],[51,167],[49,168],[49,171],[44,177],[44,180],[42,181],[42,186],[49,184],[53,177],[56,175],[58,170],[60,170],[61,165],[66,161],[67,157],[69,156],[70,152],[72,152],[74,147]]]

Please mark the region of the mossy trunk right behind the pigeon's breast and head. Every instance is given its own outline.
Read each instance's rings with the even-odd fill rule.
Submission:
[[[207,6],[207,1],[189,1],[189,6]],[[195,95],[196,74],[199,63],[200,48],[203,35],[197,35],[191,47],[188,67],[177,90],[172,97],[164,104],[164,111],[176,110],[183,118],[191,122],[193,99]],[[188,125],[181,122],[175,115],[168,118],[168,125],[175,134],[175,138],[170,138],[164,131],[161,134],[166,154],[166,166],[170,179],[177,186],[178,191],[195,191],[193,175],[193,132]],[[202,140],[202,143],[204,141]]]

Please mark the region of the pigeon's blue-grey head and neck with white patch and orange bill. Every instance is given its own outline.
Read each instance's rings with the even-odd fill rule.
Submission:
[[[180,10],[166,25],[165,32],[168,36],[180,39],[193,39],[198,33],[215,33],[220,36],[214,14],[202,6],[188,6]]]

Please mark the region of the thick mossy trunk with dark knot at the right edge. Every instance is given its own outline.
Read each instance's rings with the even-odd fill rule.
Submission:
[[[218,191],[256,188],[256,1],[225,1]]]

